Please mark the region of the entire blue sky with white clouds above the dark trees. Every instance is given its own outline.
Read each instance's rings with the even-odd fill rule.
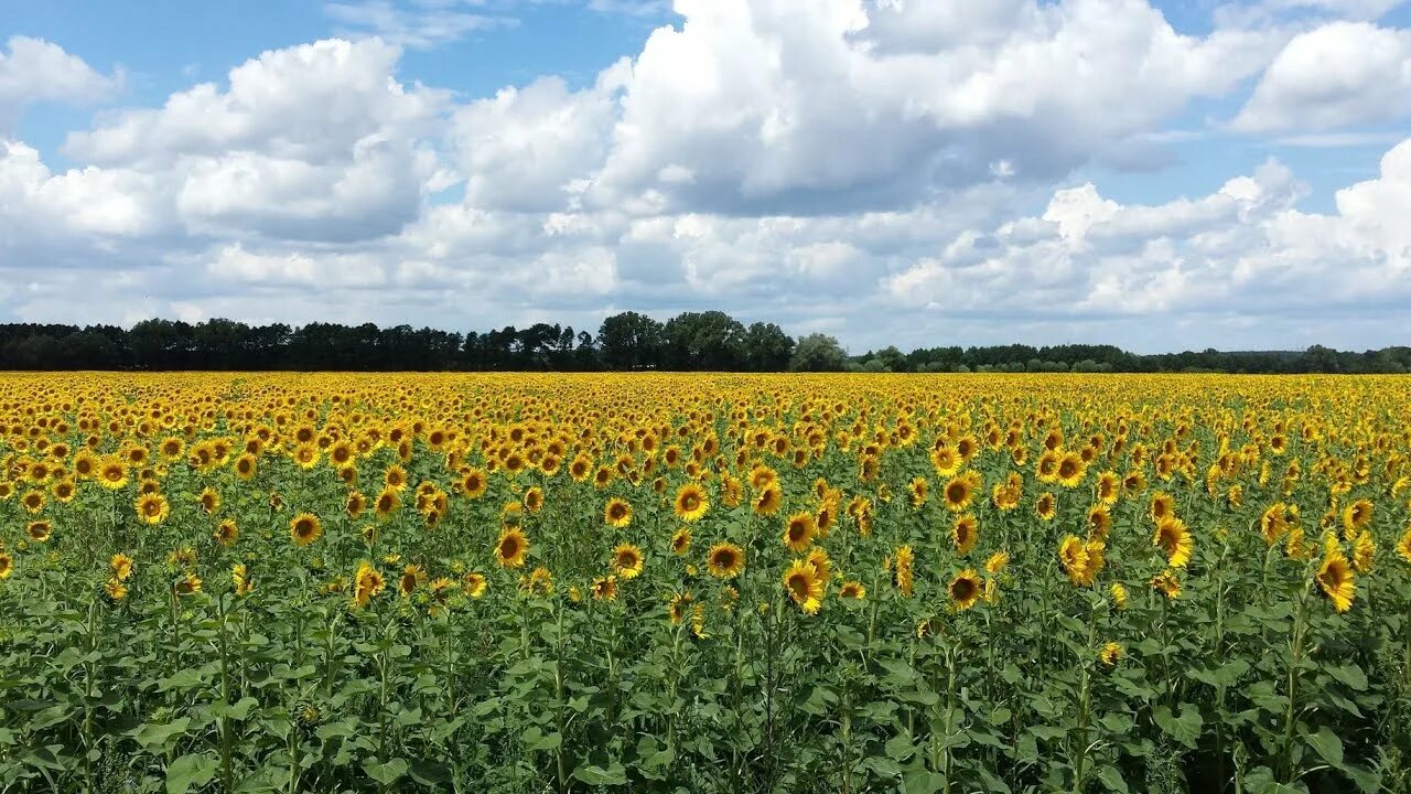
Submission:
[[[1397,0],[14,4],[0,319],[1407,343],[1408,30]]]

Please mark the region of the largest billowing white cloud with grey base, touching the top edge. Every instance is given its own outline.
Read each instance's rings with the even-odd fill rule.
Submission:
[[[1144,0],[677,0],[590,196],[834,212],[1051,179],[1256,73],[1273,31],[1175,32]],[[689,181],[667,179],[689,172]]]

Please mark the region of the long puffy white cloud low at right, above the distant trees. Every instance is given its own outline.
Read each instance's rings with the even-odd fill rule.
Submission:
[[[1016,319],[1291,315],[1319,332],[1411,298],[1411,140],[1379,178],[1338,192],[1338,212],[1295,208],[1305,188],[1270,161],[1199,199],[1120,205],[1092,185],[1057,191],[1041,218],[967,230],[885,281],[890,300],[948,315]],[[1037,301],[1037,297],[1043,301]],[[1390,332],[1383,332],[1387,336]],[[1213,335],[1212,335],[1213,338]]]

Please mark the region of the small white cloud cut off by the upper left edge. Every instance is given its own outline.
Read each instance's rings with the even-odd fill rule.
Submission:
[[[111,96],[123,73],[102,75],[58,44],[13,35],[0,49],[0,134],[37,102],[83,105]]]

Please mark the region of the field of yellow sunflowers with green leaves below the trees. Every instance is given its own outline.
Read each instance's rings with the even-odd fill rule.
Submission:
[[[1411,791],[1408,393],[0,376],[0,791]]]

